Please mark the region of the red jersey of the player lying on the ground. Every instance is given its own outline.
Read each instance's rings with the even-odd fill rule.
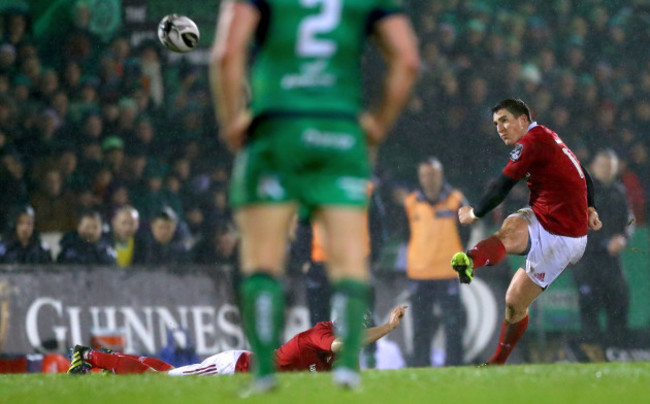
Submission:
[[[334,325],[323,321],[305,332],[291,338],[275,352],[275,361],[281,372],[309,370],[326,372],[332,370],[335,354]]]

